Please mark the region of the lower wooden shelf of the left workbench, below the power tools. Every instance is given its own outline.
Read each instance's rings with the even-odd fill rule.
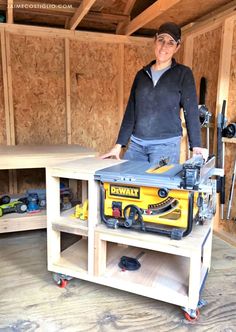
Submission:
[[[0,217],[0,233],[28,231],[46,227],[45,210],[35,214],[9,213]]]

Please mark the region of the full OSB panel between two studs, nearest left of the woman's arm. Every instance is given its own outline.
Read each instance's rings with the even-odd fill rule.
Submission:
[[[70,42],[72,143],[103,153],[119,128],[119,45]]]

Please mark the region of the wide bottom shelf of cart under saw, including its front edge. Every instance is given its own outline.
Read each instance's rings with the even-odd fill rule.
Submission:
[[[122,271],[118,266],[122,256],[140,257],[140,269]],[[188,301],[189,258],[108,243],[106,268],[98,276],[98,282],[184,305]]]

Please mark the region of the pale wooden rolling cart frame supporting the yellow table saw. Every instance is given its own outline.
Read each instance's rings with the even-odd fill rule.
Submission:
[[[211,261],[212,223],[194,226],[180,241],[157,234],[109,229],[100,219],[99,183],[96,170],[123,161],[85,158],[47,167],[48,269],[157,300],[196,309]],[[60,213],[60,178],[82,180],[88,198],[88,220]],[[86,197],[87,194],[87,197]],[[78,241],[62,250],[62,233]],[[141,268],[122,271],[122,256],[137,257]]]

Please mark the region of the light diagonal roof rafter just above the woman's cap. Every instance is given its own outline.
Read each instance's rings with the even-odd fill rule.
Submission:
[[[182,0],[158,0],[154,2],[153,5],[149,6],[141,14],[126,24],[124,30],[121,33],[125,34],[126,36],[130,36],[133,32],[153,21],[155,18],[162,15],[165,11],[181,1]]]

